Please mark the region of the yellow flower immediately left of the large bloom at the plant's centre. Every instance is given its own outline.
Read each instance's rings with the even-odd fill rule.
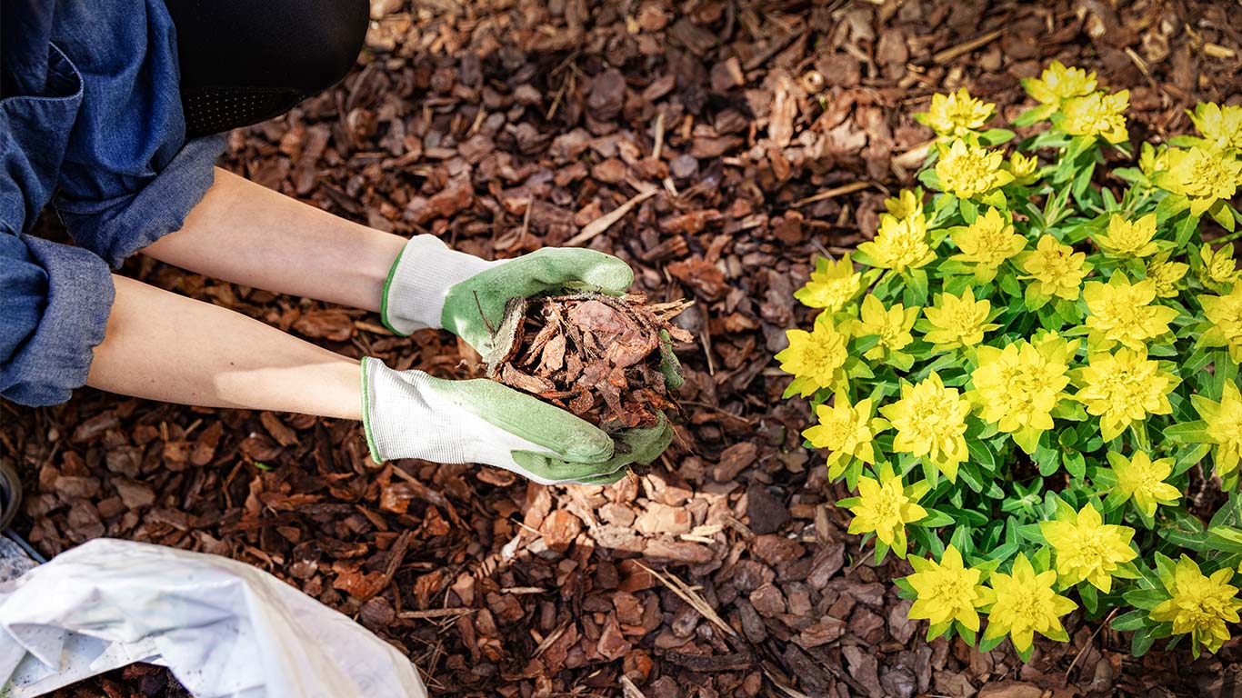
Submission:
[[[918,385],[902,384],[902,399],[879,409],[897,436],[893,450],[928,457],[951,482],[958,481],[958,465],[968,458],[966,415],[970,402],[958,389],[945,388],[940,375],[932,371]]]

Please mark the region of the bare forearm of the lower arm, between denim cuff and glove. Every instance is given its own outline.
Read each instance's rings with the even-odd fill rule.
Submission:
[[[240,313],[114,276],[87,385],[207,407],[361,419],[358,361]]]

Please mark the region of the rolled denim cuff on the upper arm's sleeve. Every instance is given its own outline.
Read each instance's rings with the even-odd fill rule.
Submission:
[[[61,195],[56,207],[73,241],[117,268],[134,252],[181,230],[215,181],[214,165],[224,148],[222,134],[188,140],[138,191],[104,200]]]

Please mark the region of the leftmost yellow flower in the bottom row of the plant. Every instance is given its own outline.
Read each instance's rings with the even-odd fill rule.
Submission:
[[[932,626],[959,622],[966,630],[979,632],[979,609],[994,601],[991,590],[979,582],[982,573],[968,568],[961,553],[950,543],[940,561],[910,558],[914,574],[905,581],[917,595],[907,617],[928,620]]]

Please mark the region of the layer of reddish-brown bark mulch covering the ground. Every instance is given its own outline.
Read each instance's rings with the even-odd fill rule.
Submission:
[[[373,0],[330,92],[231,134],[225,166],[467,252],[617,255],[674,322],[687,419],[651,473],[530,486],[474,466],[376,467],[359,425],[81,390],[0,407],[52,555],[111,535],[257,565],[401,648],[436,696],[625,698],[1235,694],[1242,651],[1129,657],[1074,642],[976,653],[925,625],[845,533],[770,361],[816,255],[869,237],[922,161],[910,114],[966,86],[1005,117],[1052,58],[1130,88],[1131,138],[1238,102],[1236,2]],[[291,253],[296,253],[291,251]],[[354,356],[466,378],[448,335],[188,274],[127,273]],[[99,693],[96,693],[99,694]]]

